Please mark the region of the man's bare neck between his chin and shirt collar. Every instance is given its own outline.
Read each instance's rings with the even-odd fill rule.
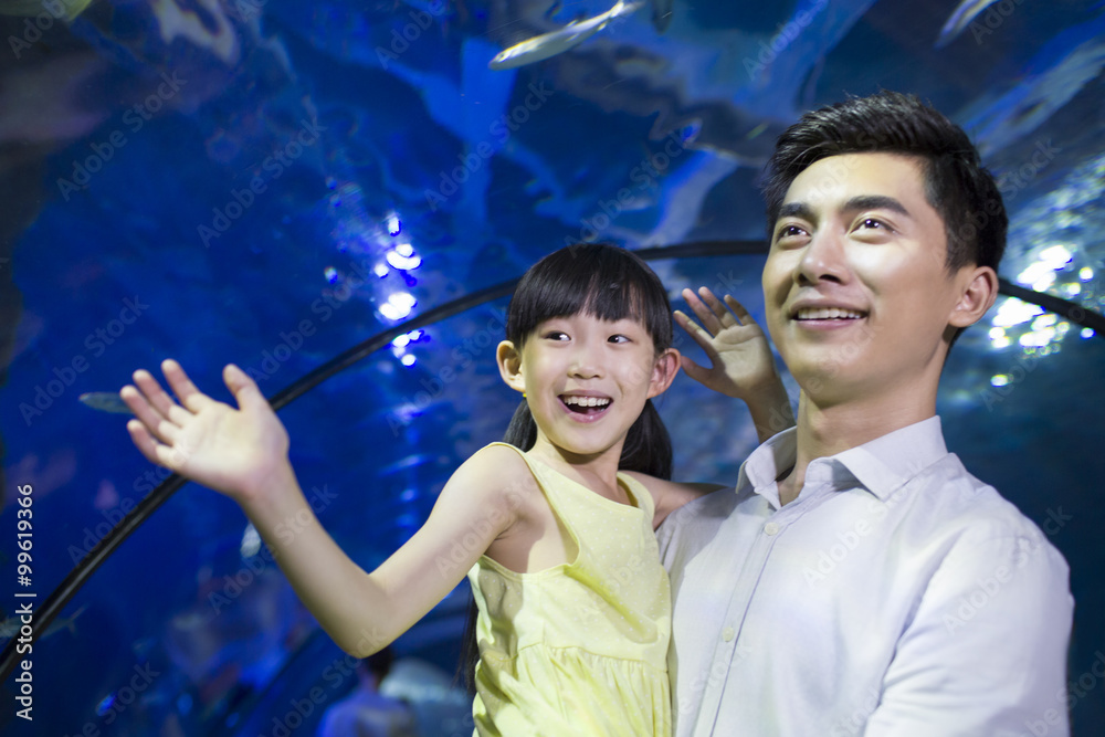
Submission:
[[[818,401],[802,391],[798,402],[794,466],[779,481],[779,503],[798,498],[806,470],[817,459],[842,453],[936,414],[936,391],[918,397]]]

